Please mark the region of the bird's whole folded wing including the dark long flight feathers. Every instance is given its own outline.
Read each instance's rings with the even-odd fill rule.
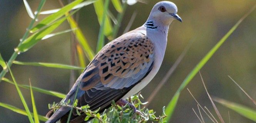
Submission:
[[[90,110],[100,108],[104,111],[111,106],[112,100],[118,101],[146,77],[152,70],[153,61],[154,44],[140,32],[126,33],[108,43],[78,79],[78,106],[89,105]],[[75,90],[70,90],[66,100],[74,100]],[[73,111],[70,121],[82,122],[84,117]]]

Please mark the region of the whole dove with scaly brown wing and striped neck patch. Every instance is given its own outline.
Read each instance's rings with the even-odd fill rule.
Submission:
[[[90,110],[103,112],[115,102],[142,90],[156,75],[164,59],[169,25],[182,22],[177,6],[169,1],[156,3],[141,27],[107,43],[77,78],[62,100],[77,106],[89,105]],[[76,93],[77,92],[77,93]],[[66,123],[71,108],[60,106],[47,113],[45,123]],[[85,114],[72,111],[70,123],[84,123]]]

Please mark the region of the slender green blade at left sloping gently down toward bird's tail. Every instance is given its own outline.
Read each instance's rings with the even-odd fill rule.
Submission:
[[[2,80],[14,85],[13,81],[8,80],[7,78],[3,78]],[[30,89],[30,86],[28,86],[28,85],[18,85],[18,86],[20,86],[22,88],[25,88],[25,89]],[[44,94],[47,94],[47,95],[51,95],[51,96],[55,96],[55,97],[59,97],[59,98],[65,98],[66,97],[65,94],[59,93],[59,92],[56,92],[56,91],[45,90],[45,89],[37,88],[37,87],[33,87],[33,86],[32,86],[32,89],[34,91],[44,93]]]

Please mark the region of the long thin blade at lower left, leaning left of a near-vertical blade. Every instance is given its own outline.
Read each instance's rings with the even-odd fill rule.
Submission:
[[[28,114],[28,120],[30,121],[30,123],[34,123],[34,121],[33,121],[33,119],[32,119],[32,115],[31,115],[31,113],[30,113],[30,111],[29,111],[28,105],[27,105],[27,103],[26,103],[26,101],[25,101],[25,98],[23,97],[23,95],[22,95],[22,93],[21,93],[21,91],[20,91],[20,88],[18,87],[18,84],[17,84],[17,82],[16,82],[16,80],[15,80],[13,74],[12,74],[12,70],[9,68],[9,66],[8,66],[8,69],[9,69],[10,74],[11,74],[11,76],[12,76],[12,80],[13,80],[13,83],[15,84],[16,90],[18,91],[18,95],[20,96],[20,100],[22,101],[22,104],[23,104],[23,106],[24,106],[24,108],[25,108],[25,111],[26,111],[27,114]]]

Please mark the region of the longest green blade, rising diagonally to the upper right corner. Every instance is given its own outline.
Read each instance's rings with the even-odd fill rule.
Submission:
[[[221,47],[221,45],[234,32],[234,30],[236,30],[236,28],[240,25],[240,23],[243,22],[244,18],[246,18],[251,12],[253,12],[253,10],[255,8],[256,8],[256,5],[254,5],[254,7],[251,10],[249,10],[248,13],[246,13],[241,19],[239,19],[238,22],[229,30],[229,32],[226,33],[226,35],[224,35],[224,37],[221,38],[221,40],[219,40],[219,42],[206,54],[206,56],[204,56],[204,58],[202,58],[202,60],[189,73],[189,75],[187,75],[185,80],[181,83],[181,85],[179,86],[178,90],[176,91],[176,93],[172,97],[172,100],[169,102],[168,106],[166,107],[166,115],[167,115],[167,117],[164,118],[164,120],[166,120],[167,122],[170,122],[171,117],[172,117],[172,113],[173,113],[173,111],[174,111],[174,109],[176,107],[176,104],[177,104],[177,101],[179,99],[179,95],[180,95],[181,91],[187,86],[187,84],[192,80],[192,78],[194,78],[194,76],[197,74],[197,72],[206,64],[206,62],[219,49],[219,47]]]

